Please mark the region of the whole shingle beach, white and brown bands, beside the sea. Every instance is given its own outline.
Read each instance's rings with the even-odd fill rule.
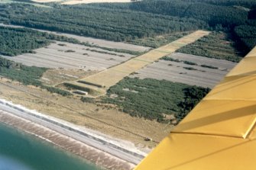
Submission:
[[[0,99],[0,121],[107,169],[132,169],[147,154],[131,146],[131,143],[125,143],[126,141],[110,139],[110,136],[93,130],[86,131],[86,128],[28,110],[3,99]],[[59,126],[54,123],[59,123]],[[86,141],[86,137],[89,141]]]

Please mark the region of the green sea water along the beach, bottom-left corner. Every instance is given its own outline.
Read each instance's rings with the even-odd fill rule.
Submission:
[[[0,170],[99,170],[70,152],[0,123]]]

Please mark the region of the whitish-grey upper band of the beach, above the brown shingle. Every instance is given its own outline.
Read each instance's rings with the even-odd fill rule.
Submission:
[[[108,152],[112,156],[116,156],[135,165],[141,162],[141,159],[147,155],[147,153],[141,152],[136,147],[131,146],[130,143],[125,143],[125,141],[118,141],[94,130],[78,127],[64,120],[29,110],[26,107],[19,104],[13,104],[11,101],[6,101],[5,99],[0,99],[0,108],[10,114],[14,114],[26,120],[31,120],[34,123],[38,123],[66,136],[70,136],[75,140],[79,140],[96,149]]]

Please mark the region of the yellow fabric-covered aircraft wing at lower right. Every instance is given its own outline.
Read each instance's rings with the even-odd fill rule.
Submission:
[[[255,121],[256,47],[134,169],[255,170]]]

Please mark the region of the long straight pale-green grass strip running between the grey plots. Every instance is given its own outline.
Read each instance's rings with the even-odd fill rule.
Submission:
[[[206,36],[208,34],[209,31],[197,30],[192,34],[173,41],[173,43],[169,43],[163,47],[157,48],[156,50],[151,50],[141,56],[129,59],[127,62],[122,63],[118,66],[114,66],[95,75],[91,75],[86,79],[83,79],[83,81],[94,83],[97,85],[103,85],[107,89],[112,85],[115,85],[117,82],[119,82],[125,76],[128,76],[132,72],[136,72],[138,69],[147,66],[149,63],[153,63],[157,59],[173,53],[176,50],[180,49],[180,47],[186,46],[188,43],[193,43],[200,37]]]

